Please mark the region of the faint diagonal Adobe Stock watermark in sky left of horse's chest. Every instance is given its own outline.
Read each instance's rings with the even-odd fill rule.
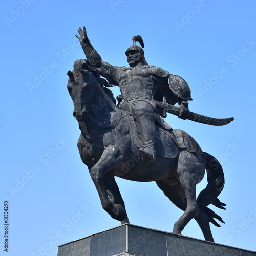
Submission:
[[[25,170],[25,175],[20,178],[16,179],[16,184],[14,186],[9,187],[9,191],[12,195],[12,197],[15,197],[17,193],[19,193],[22,189],[25,188],[27,184],[33,180],[38,173],[41,172],[44,166],[48,165],[50,161],[54,159],[58,155],[58,153],[63,150],[63,148],[66,147],[66,145],[69,143],[69,141],[66,141],[64,137],[62,139],[57,138],[57,142],[55,143],[55,146],[50,148],[48,152],[45,152],[44,154],[40,155],[38,158],[39,163],[34,164],[34,166],[29,169]]]

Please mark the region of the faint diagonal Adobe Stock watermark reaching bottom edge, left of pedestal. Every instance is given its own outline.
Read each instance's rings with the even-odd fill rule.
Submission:
[[[45,256],[47,253],[55,247],[59,240],[65,237],[65,233],[69,232],[84,216],[86,216],[92,207],[88,207],[87,204],[79,204],[79,209],[72,217],[67,218],[61,223],[61,229],[57,230],[53,236],[47,237],[47,242],[38,245],[38,251],[32,252],[31,256]]]

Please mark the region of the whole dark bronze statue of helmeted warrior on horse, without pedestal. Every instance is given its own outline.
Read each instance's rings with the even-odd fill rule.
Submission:
[[[140,36],[133,37],[134,45],[125,52],[127,68],[102,61],[85,27],[78,32],[87,60],[75,61],[73,71],[68,72],[67,88],[81,130],[80,157],[88,166],[103,209],[122,224],[129,223],[115,176],[156,181],[170,201],[184,211],[173,232],[180,234],[195,218],[205,239],[214,241],[209,222],[220,226],[214,218],[223,220],[207,206],[225,209],[217,198],[224,186],[222,167],[216,158],[202,152],[191,136],[172,129],[161,116],[170,112],[211,125],[224,125],[233,118],[214,119],[188,111],[188,84],[177,75],[148,65],[144,51],[135,43],[144,46]],[[122,94],[118,105],[107,88],[112,84],[119,86]],[[203,179],[205,169],[208,184],[196,198],[196,184]]]

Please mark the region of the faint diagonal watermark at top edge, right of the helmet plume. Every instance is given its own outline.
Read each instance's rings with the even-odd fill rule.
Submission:
[[[181,28],[185,28],[186,25],[190,23],[192,19],[198,15],[202,8],[206,6],[206,1],[205,0],[199,0],[197,5],[190,5],[189,6],[189,11],[187,11],[186,14],[182,13],[181,14],[181,20],[180,22],[174,22],[174,26],[178,32],[180,32]]]

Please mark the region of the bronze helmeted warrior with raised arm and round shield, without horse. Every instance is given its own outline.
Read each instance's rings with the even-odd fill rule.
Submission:
[[[177,83],[172,86],[170,83],[172,74],[159,67],[148,65],[143,49],[135,44],[135,37],[133,37],[134,45],[125,52],[130,66],[127,68],[112,66],[102,61],[91,45],[85,27],[79,28],[78,32],[80,37],[76,36],[80,40],[87,59],[95,67],[100,68],[100,75],[110,84],[119,86],[123,98],[119,108],[129,112],[134,118],[141,140],[140,156],[143,160],[156,160],[155,134],[160,114],[154,100],[161,101],[163,96],[166,96],[169,104],[174,105],[178,102],[179,117],[185,119],[186,111],[188,111],[187,100],[191,100],[191,92],[187,83],[184,81],[185,83],[183,82],[181,86]],[[142,42],[143,46],[142,38],[136,37],[139,37],[137,41]]]

